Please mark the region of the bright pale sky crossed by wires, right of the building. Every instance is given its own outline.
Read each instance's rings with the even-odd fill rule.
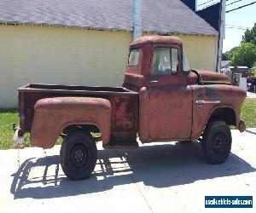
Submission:
[[[217,3],[219,0],[197,0],[198,10],[211,5],[212,3]],[[255,0],[241,0],[240,2],[234,3],[237,0],[226,0],[226,11],[230,9],[236,9],[247,3],[253,3]],[[207,3],[209,2],[209,3]],[[201,3],[206,3],[201,5]],[[228,5],[229,3],[233,3]],[[256,23],[256,3],[248,7],[237,9],[226,14],[226,27],[225,27],[225,39],[223,52],[226,52],[241,43],[241,37],[247,28],[251,29]]]

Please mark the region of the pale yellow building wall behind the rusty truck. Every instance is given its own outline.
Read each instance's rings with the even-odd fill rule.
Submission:
[[[181,35],[191,68],[214,70],[218,37]],[[26,83],[120,86],[132,32],[0,26],[0,108]]]

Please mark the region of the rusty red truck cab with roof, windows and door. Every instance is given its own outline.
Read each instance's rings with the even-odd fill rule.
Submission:
[[[123,86],[139,91],[142,141],[190,140],[189,85],[195,83],[177,37],[142,37],[131,44]]]

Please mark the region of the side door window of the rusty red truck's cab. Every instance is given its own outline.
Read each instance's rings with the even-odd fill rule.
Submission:
[[[152,75],[173,75],[177,73],[178,52],[176,48],[154,49]]]

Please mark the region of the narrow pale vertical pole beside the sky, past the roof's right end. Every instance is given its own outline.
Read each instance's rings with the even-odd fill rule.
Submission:
[[[221,55],[223,50],[223,39],[225,38],[225,14],[226,14],[226,0],[220,1],[219,21],[218,21],[218,55],[216,72],[221,69]]]

